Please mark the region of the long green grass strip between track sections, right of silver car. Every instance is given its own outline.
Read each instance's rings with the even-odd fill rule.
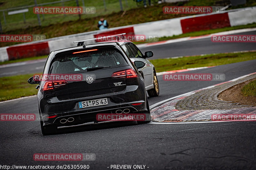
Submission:
[[[256,52],[210,54],[205,56],[183,57],[177,59],[150,60],[155,66],[156,72],[179,70],[186,68],[218,66],[247,60],[255,60]]]

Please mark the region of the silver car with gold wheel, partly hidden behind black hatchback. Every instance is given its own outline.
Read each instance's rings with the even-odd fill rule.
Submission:
[[[142,61],[145,63],[145,66],[143,68],[140,68],[139,71],[142,72],[142,76],[145,81],[145,88],[148,91],[149,97],[156,97],[159,96],[159,86],[158,81],[156,77],[156,70],[154,65],[147,60],[147,58],[153,56],[152,51],[145,52],[143,55],[139,48],[135,46],[132,42],[118,42],[121,47],[124,49],[127,56],[134,61]]]

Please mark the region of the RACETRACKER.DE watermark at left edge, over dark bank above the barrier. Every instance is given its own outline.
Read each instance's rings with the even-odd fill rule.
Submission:
[[[42,34],[1,34],[0,42],[32,42],[46,39]]]

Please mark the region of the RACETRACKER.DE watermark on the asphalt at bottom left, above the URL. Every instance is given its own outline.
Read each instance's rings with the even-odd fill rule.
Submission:
[[[93,161],[95,153],[35,153],[35,161]]]

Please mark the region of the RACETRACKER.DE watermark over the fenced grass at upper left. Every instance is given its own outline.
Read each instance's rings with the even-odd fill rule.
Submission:
[[[34,14],[95,14],[94,6],[36,6]]]

